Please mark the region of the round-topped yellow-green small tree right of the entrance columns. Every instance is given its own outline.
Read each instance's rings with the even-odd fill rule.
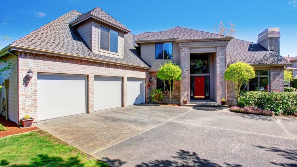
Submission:
[[[237,62],[227,68],[224,79],[228,81],[228,86],[235,92],[236,102],[243,91],[240,90],[241,86],[247,84],[252,78],[255,78],[254,68],[245,62]]]

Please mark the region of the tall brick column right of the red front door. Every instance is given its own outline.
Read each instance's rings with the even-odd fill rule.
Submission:
[[[217,47],[217,104],[222,98],[227,99],[227,82],[224,80],[224,73],[227,69],[226,47]]]

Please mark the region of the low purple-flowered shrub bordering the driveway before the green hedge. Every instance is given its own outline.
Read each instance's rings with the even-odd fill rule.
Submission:
[[[242,107],[242,108],[238,106],[233,106],[230,108],[230,111],[237,112],[237,113],[245,113],[245,114],[274,115],[273,111],[263,110],[256,106],[248,106],[248,107]]]

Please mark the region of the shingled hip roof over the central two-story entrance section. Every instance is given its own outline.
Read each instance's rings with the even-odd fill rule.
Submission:
[[[189,39],[205,39],[205,38],[230,38],[224,35],[214,34],[205,31],[199,31],[194,29],[187,29],[183,27],[174,27],[165,31],[160,31],[157,33],[149,34],[141,33],[136,35],[138,42],[149,41],[149,40],[166,40],[166,39],[176,39],[176,40],[189,40]]]

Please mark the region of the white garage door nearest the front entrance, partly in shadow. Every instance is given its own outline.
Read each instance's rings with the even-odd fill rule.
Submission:
[[[144,78],[127,78],[128,105],[145,103],[146,81]]]

